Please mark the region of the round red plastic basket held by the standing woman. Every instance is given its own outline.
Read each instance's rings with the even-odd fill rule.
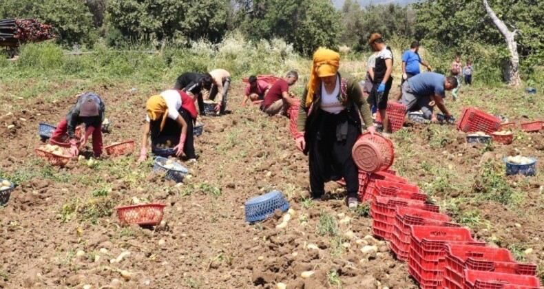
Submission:
[[[351,151],[357,167],[366,173],[385,171],[395,160],[393,142],[375,133],[363,133]]]

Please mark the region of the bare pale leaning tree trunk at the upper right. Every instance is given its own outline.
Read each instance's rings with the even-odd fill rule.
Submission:
[[[510,31],[506,27],[503,21],[496,17],[495,12],[489,6],[488,0],[482,0],[483,6],[485,6],[485,11],[488,12],[489,17],[491,17],[494,25],[499,32],[503,34],[504,40],[506,41],[506,46],[510,51],[510,65],[505,67],[504,75],[507,76],[505,81],[508,81],[512,86],[521,85],[521,79],[519,78],[519,56],[518,56],[518,43],[514,39],[516,37],[517,30]]]

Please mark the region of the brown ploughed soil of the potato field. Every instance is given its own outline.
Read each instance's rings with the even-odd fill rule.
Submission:
[[[154,175],[152,160],[136,164],[145,100],[173,80],[43,76],[0,83],[0,178],[17,186],[0,207],[0,288],[275,288],[278,282],[287,288],[417,288],[388,244],[366,237],[368,204],[348,211],[345,190],[334,182],[327,184],[327,200],[308,198],[307,159],[295,149],[289,119],[240,107],[242,77],[229,92],[230,114],[200,118],[198,162],[182,163],[191,178],[180,186]],[[299,94],[303,79],[294,88]],[[38,124],[55,125],[83,91],[96,92],[107,105],[112,129],[104,144],[132,139],[136,150],[52,167],[34,155]],[[541,90],[529,95],[476,85],[462,87],[460,98],[447,100],[455,116],[466,106],[518,123],[544,116]],[[407,123],[391,139],[399,175],[477,239],[538,264],[543,279],[542,133],[516,131],[510,145],[472,145],[454,126]],[[505,175],[503,156],[517,153],[538,158],[536,176]],[[90,144],[83,154],[92,155]],[[295,211],[288,226],[276,228],[280,214],[245,222],[244,202],[275,189]],[[135,199],[167,204],[164,222],[121,225],[116,206]],[[363,238],[377,252],[362,253],[356,240]],[[315,274],[300,277],[308,270]]]

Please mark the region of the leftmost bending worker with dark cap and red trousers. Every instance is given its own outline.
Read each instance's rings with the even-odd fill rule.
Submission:
[[[100,96],[92,92],[85,92],[79,96],[76,105],[70,109],[66,117],[59,122],[51,136],[52,140],[63,142],[63,137],[68,134],[70,138],[70,153],[72,156],[79,154],[76,127],[85,124],[85,133],[79,140],[83,147],[89,136],[92,135],[92,151],[95,158],[102,155],[102,122],[105,118],[105,105]]]

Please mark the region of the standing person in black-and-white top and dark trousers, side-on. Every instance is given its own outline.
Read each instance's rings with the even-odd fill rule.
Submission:
[[[370,36],[368,43],[375,52],[378,52],[375,59],[373,87],[367,102],[372,107],[377,107],[381,116],[381,123],[384,126],[384,133],[389,132],[389,118],[386,113],[387,100],[391,86],[393,86],[393,53],[386,47],[381,34],[375,33]]]

